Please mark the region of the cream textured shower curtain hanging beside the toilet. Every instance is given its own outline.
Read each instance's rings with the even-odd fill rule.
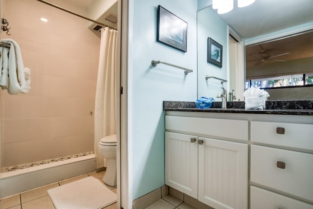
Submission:
[[[101,29],[100,56],[94,110],[94,152],[96,167],[107,167],[98,149],[101,138],[116,134],[115,72],[117,31]]]

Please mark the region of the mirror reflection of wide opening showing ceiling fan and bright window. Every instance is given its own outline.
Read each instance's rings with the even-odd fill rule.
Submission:
[[[313,100],[313,30],[246,46],[246,88],[252,86],[266,88],[270,100]]]

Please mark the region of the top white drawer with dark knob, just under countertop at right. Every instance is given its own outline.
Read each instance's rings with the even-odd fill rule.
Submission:
[[[313,150],[312,136],[313,124],[251,121],[252,142]]]

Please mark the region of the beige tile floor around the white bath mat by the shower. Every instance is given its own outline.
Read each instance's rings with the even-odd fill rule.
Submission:
[[[48,196],[47,189],[59,187],[64,184],[89,176],[93,176],[94,178],[99,179],[99,181],[103,183],[102,177],[104,173],[105,170],[94,171],[88,174],[66,179],[58,183],[50,184],[40,188],[35,188],[29,191],[22,192],[20,194],[3,198],[0,200],[0,209],[55,209],[50,197]],[[111,187],[109,185],[105,186],[107,186],[114,193],[116,193],[116,187]],[[116,203],[108,207],[105,207],[105,209],[116,209],[116,208],[117,208]]]

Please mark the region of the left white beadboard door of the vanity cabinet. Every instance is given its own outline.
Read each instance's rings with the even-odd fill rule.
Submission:
[[[198,198],[198,137],[165,132],[165,184]]]

